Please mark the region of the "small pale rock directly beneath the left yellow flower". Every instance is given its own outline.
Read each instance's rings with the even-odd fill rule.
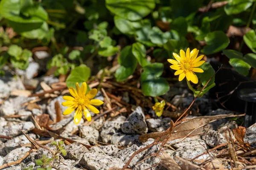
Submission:
[[[97,144],[96,141],[99,140],[98,130],[86,125],[81,125],[78,128],[82,138],[87,139],[91,144]]]

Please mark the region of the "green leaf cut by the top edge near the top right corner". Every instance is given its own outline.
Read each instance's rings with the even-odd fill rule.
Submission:
[[[229,0],[224,6],[227,15],[239,14],[252,6],[254,0]]]

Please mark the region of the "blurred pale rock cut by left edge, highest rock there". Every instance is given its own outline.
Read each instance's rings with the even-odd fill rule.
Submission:
[[[12,90],[25,90],[25,87],[21,79],[6,73],[4,77],[0,77],[0,99],[7,98]]]

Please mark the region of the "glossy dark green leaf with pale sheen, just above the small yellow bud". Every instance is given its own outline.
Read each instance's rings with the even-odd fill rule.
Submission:
[[[163,77],[162,63],[153,63],[144,67],[141,74],[141,89],[145,96],[161,96],[169,91],[169,83]]]

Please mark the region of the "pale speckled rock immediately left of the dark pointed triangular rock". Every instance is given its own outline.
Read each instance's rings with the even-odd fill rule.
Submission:
[[[104,143],[110,143],[113,134],[121,132],[121,126],[125,122],[125,119],[125,116],[118,116],[113,121],[104,122],[100,133]]]

